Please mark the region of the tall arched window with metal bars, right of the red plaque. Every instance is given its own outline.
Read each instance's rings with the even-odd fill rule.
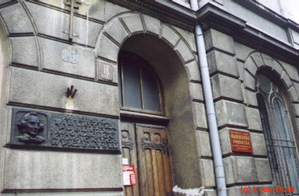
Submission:
[[[264,73],[257,74],[257,101],[273,183],[294,186],[299,193],[298,154],[286,97],[281,87]]]

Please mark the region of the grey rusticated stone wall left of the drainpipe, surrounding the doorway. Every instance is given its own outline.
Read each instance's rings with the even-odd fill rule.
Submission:
[[[7,42],[1,64],[2,96],[0,132],[1,195],[122,195],[121,154],[76,150],[20,149],[10,146],[13,108],[89,117],[117,119],[119,94],[117,58],[122,44],[138,34],[155,36],[168,45],[180,60],[192,110],[194,134],[193,182],[214,186],[203,104],[200,72],[194,35],[158,19],[132,12],[106,1],[75,4],[73,40],[68,41],[69,6],[63,0],[2,1],[0,19],[2,42]],[[87,11],[89,20],[87,20]],[[63,59],[63,51],[76,51],[73,62]],[[77,59],[76,59],[77,58]],[[101,77],[100,64],[112,67],[113,79]],[[67,106],[66,88],[78,89],[73,105]],[[174,89],[175,90],[175,89]],[[204,131],[203,131],[204,130]],[[171,141],[170,141],[171,142]],[[198,160],[198,153],[201,159]],[[185,161],[188,164],[188,161]],[[179,165],[179,164],[178,164]],[[178,166],[179,167],[179,166]],[[183,171],[184,167],[178,169]],[[188,166],[193,171],[192,166]],[[187,168],[187,169],[188,169]],[[205,173],[204,173],[205,172]],[[203,173],[202,175],[200,173]],[[190,180],[186,178],[185,180]],[[186,183],[185,183],[186,184]],[[36,192],[36,193],[35,193]]]

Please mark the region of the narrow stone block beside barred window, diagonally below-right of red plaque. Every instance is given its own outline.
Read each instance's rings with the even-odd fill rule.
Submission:
[[[255,172],[259,182],[271,182],[272,174],[267,158],[254,158]]]

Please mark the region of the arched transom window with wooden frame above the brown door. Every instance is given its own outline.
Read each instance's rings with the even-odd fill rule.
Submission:
[[[151,66],[130,52],[121,52],[119,64],[121,109],[163,114],[161,86]]]

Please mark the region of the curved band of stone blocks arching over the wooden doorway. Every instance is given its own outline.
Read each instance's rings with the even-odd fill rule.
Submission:
[[[126,39],[135,34],[151,34],[166,42],[185,65],[195,59],[183,36],[168,24],[140,13],[125,13],[104,25],[97,41],[97,56],[117,63],[117,54]]]

